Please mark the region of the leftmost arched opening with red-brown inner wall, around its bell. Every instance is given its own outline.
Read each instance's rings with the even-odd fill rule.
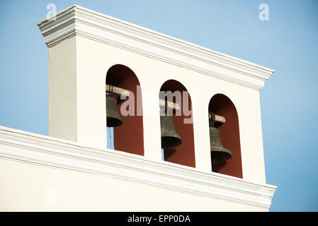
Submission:
[[[106,84],[132,93],[127,100],[120,100],[120,95],[114,95],[118,101],[118,112],[123,119],[121,126],[113,127],[114,149],[144,155],[142,93],[137,76],[127,66],[116,64],[108,70]]]

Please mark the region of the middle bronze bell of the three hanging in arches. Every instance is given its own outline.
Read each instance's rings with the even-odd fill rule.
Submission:
[[[178,133],[176,133],[176,129],[174,129],[173,117],[166,113],[166,106],[164,115],[160,116],[161,148],[175,148],[176,146],[181,145],[182,139]]]

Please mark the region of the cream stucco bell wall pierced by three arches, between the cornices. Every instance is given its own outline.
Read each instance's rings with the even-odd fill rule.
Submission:
[[[76,48],[73,48],[74,44]],[[76,61],[76,64],[72,64],[76,65],[76,76],[73,76],[74,68],[61,67],[57,64],[65,54],[69,55],[65,60]],[[50,84],[50,136],[74,138],[75,141],[93,147],[106,148],[106,73],[111,66],[123,64],[134,71],[142,88],[145,157],[161,160],[159,111],[153,114],[147,109],[159,106],[157,97],[161,85],[169,79],[175,79],[182,83],[191,95],[195,167],[211,171],[207,109],[210,98],[222,93],[227,95],[237,108],[243,178],[250,182],[266,182],[258,90],[86,37],[75,36],[50,47],[49,56],[50,81],[51,78],[59,78],[57,75],[73,76],[72,79],[63,79],[63,85]],[[64,64],[64,61],[61,64]],[[59,98],[61,93],[76,96],[76,100]],[[153,96],[156,98],[151,98]],[[55,107],[56,102],[59,102],[59,106],[63,108]],[[76,119],[72,129],[66,129],[66,124],[59,122],[61,111],[64,113],[63,121]]]

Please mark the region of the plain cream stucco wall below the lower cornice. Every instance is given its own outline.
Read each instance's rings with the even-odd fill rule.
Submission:
[[[136,182],[0,159],[0,211],[264,211]]]

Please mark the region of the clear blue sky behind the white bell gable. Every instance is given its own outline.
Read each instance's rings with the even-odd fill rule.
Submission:
[[[318,1],[0,0],[0,125],[47,135],[47,4],[77,4],[270,69],[261,90],[271,211],[318,211]],[[268,4],[269,20],[259,20]]]

